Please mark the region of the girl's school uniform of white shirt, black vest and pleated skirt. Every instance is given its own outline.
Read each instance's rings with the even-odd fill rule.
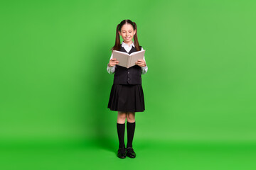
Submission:
[[[139,48],[143,50],[142,46],[139,46]],[[132,45],[122,42],[119,51],[131,54],[137,50],[133,42]],[[110,57],[110,60],[112,57]],[[107,72],[114,74],[114,82],[110,91],[107,108],[110,108],[111,111],[143,112],[145,110],[145,104],[142,89],[142,74],[145,74],[147,69],[147,66],[140,67],[138,65],[134,65],[128,69],[117,64],[114,67],[107,67]]]

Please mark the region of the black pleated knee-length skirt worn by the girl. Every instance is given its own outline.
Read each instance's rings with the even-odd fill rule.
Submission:
[[[107,108],[111,111],[143,112],[145,105],[142,84],[113,84]]]

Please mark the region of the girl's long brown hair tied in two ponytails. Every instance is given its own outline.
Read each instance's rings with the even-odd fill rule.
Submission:
[[[137,33],[138,33],[137,25],[136,25],[135,22],[132,22],[130,20],[123,20],[123,21],[121,21],[121,23],[119,23],[117,25],[116,40],[115,40],[114,47],[112,47],[111,50],[113,51],[113,50],[119,50],[120,49],[121,44],[120,44],[120,35],[118,33],[118,30],[121,32],[121,28],[122,28],[122,26],[124,26],[125,23],[131,24],[132,27],[134,28],[134,30],[136,30],[136,33],[134,34],[134,46],[135,46],[137,51],[140,51],[141,49],[139,48],[139,41],[138,41],[138,36],[137,36]]]

